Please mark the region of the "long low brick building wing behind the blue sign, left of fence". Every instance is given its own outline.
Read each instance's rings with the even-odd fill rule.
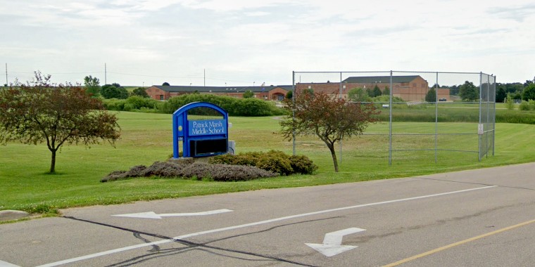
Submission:
[[[291,91],[291,85],[277,86],[161,86],[153,85],[145,91],[149,96],[156,100],[168,100],[173,96],[180,96],[185,93],[210,93],[218,96],[231,96],[243,98],[246,91],[252,91],[254,98],[264,100],[282,100],[288,91]]]

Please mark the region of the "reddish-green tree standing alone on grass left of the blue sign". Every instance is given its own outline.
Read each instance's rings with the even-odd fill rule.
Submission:
[[[51,84],[50,75],[35,72],[34,82],[0,90],[0,143],[46,143],[50,172],[56,171],[56,152],[64,144],[86,146],[119,138],[117,118],[84,88]]]

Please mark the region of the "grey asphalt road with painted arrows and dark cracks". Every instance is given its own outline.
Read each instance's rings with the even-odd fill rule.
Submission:
[[[62,212],[0,266],[535,266],[535,163]]]

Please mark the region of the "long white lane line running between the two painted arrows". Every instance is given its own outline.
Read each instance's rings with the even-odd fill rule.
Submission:
[[[75,261],[83,261],[85,259],[92,259],[92,258],[96,258],[98,256],[105,256],[105,255],[109,255],[109,254],[113,254],[113,253],[117,253],[117,252],[125,252],[125,251],[130,250],[130,249],[137,249],[137,248],[140,248],[140,247],[149,247],[149,246],[152,246],[152,245],[160,245],[160,244],[165,244],[165,243],[169,243],[169,242],[175,242],[176,240],[183,240],[183,239],[188,238],[188,237],[194,237],[194,236],[198,236],[198,235],[206,235],[206,234],[210,234],[210,233],[218,233],[218,232],[222,232],[222,231],[226,231],[226,230],[235,230],[235,229],[239,229],[239,228],[246,228],[246,227],[249,227],[249,226],[258,226],[258,225],[265,224],[265,223],[274,223],[276,221],[285,221],[285,220],[296,219],[296,218],[301,218],[301,217],[305,217],[305,216],[312,216],[312,215],[317,215],[317,214],[325,214],[325,213],[334,212],[334,211],[343,211],[343,210],[346,210],[346,209],[356,209],[356,208],[361,208],[361,207],[377,206],[377,205],[381,205],[381,204],[404,202],[404,201],[409,201],[409,200],[421,200],[422,198],[439,197],[441,195],[453,195],[453,194],[458,194],[458,193],[470,192],[470,191],[474,191],[474,190],[495,188],[497,186],[498,185],[491,185],[491,186],[484,186],[484,187],[481,187],[481,188],[471,188],[471,189],[451,191],[451,192],[439,193],[439,194],[433,194],[433,195],[422,195],[420,197],[408,197],[408,198],[402,198],[400,200],[388,200],[388,201],[383,201],[383,202],[360,204],[360,205],[349,206],[349,207],[341,207],[341,208],[336,208],[336,209],[325,209],[325,210],[322,210],[322,211],[313,211],[313,212],[308,212],[308,213],[305,213],[305,214],[296,214],[296,215],[285,216],[285,217],[280,217],[280,218],[275,218],[275,219],[270,219],[270,220],[265,220],[265,221],[257,221],[256,223],[245,223],[245,224],[240,224],[239,226],[229,226],[229,227],[225,227],[225,228],[218,228],[218,229],[206,230],[206,231],[197,232],[197,233],[190,233],[190,234],[187,234],[187,235],[179,235],[177,237],[173,237],[172,239],[168,239],[168,240],[160,240],[160,241],[156,241],[156,242],[143,243],[143,244],[139,244],[139,245],[132,245],[132,246],[129,246],[129,247],[120,247],[118,249],[111,249],[111,250],[107,250],[105,252],[98,252],[98,253],[95,253],[95,254],[79,256],[79,257],[76,257],[76,258],[73,258],[73,259],[65,259],[63,261],[56,261],[56,262],[53,262],[53,263],[47,263],[47,264],[44,264],[44,265],[41,265],[41,266],[37,266],[37,267],[58,266],[58,265],[65,264],[65,263],[72,263],[72,262],[75,262]]]

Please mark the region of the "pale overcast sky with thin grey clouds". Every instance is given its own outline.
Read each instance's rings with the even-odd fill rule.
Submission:
[[[292,71],[535,76],[533,0],[0,0],[0,82],[291,84]],[[107,67],[105,77],[104,65]],[[206,73],[206,74],[205,74]],[[459,83],[462,83],[459,82]],[[433,84],[433,82],[429,82]]]

